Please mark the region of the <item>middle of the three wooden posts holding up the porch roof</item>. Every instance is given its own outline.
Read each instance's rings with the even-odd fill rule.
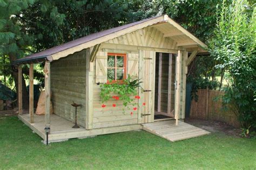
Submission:
[[[34,73],[33,64],[29,66],[29,115],[30,123],[34,123]]]

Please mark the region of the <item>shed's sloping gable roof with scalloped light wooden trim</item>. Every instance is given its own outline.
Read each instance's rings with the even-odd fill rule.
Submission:
[[[154,24],[158,25],[161,23],[171,24],[172,26],[174,26],[174,28],[181,31],[184,35],[186,35],[188,38],[190,38],[194,43],[196,43],[200,47],[203,47],[203,48],[207,47],[203,42],[201,42],[198,38],[193,36],[187,30],[185,30],[178,23],[174,22],[167,15],[162,15],[162,16],[153,17],[153,18],[142,20],[142,21],[118,26],[116,28],[112,28],[109,30],[93,33],[91,35],[72,40],[68,43],[64,43],[62,45],[58,45],[44,51],[34,53],[30,56],[17,59],[12,64],[22,64],[22,63],[36,62],[36,61],[39,62],[45,59],[49,61],[57,60],[59,58],[66,57],[72,53],[75,53],[77,51],[81,51],[83,49],[87,49],[88,47],[92,47],[94,45],[106,42],[107,40],[125,35],[126,33],[130,33],[132,31],[143,29],[150,25],[154,25]],[[182,46],[182,44],[180,46]]]

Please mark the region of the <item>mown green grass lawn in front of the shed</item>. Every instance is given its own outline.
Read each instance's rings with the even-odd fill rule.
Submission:
[[[170,142],[144,132],[43,145],[15,116],[0,117],[0,169],[256,169],[256,139],[212,133]]]

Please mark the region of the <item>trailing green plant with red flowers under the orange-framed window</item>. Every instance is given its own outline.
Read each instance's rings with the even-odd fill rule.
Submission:
[[[129,104],[133,106],[137,103],[133,103],[134,99],[139,99],[139,96],[136,96],[138,93],[138,87],[140,87],[139,81],[140,79],[132,80],[130,76],[123,81],[109,81],[106,84],[100,85],[100,99],[102,103],[109,101],[111,98],[114,100],[121,100],[123,101],[123,105],[126,107]],[[133,97],[132,97],[133,96]],[[135,97],[134,97],[135,96]],[[102,105],[105,107],[106,105]],[[112,105],[116,107],[116,104]]]

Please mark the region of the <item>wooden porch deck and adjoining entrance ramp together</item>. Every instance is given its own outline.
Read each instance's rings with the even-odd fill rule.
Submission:
[[[30,123],[29,114],[20,114],[18,115],[18,118],[46,142],[44,115],[35,114],[34,123]],[[65,141],[72,138],[87,138],[100,134],[136,131],[141,129],[156,134],[169,141],[184,140],[210,133],[201,128],[186,124],[183,121],[179,121],[178,125],[176,125],[176,120],[155,121],[154,123],[142,125],[136,124],[86,130],[82,126],[80,126],[80,128],[72,128],[74,124],[71,121],[59,117],[56,114],[51,114],[50,118],[51,131],[48,136],[49,142]]]

